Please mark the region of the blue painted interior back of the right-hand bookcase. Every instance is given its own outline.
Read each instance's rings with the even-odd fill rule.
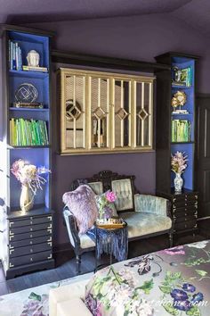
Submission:
[[[182,179],[183,179],[183,187],[186,189],[193,190],[193,174],[194,174],[194,141],[195,141],[195,121],[194,121],[194,104],[195,104],[195,60],[190,59],[187,57],[180,57],[180,56],[174,56],[172,57],[172,67],[178,67],[179,69],[184,68],[191,68],[191,86],[190,87],[182,87],[182,86],[174,86],[172,83],[172,96],[177,91],[183,91],[187,96],[186,104],[184,104],[181,109],[187,110],[188,114],[173,114],[172,113],[172,120],[187,120],[191,123],[191,130],[190,130],[190,142],[175,142],[171,143],[171,153],[175,154],[176,152],[182,152],[185,155],[188,156],[188,162],[187,162],[187,168],[182,173]],[[173,111],[173,108],[172,108]],[[174,178],[175,174],[172,171],[171,172],[171,187],[174,187]]]

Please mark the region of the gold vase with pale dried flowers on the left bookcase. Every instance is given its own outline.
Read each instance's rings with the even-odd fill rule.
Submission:
[[[12,174],[21,183],[20,209],[27,212],[34,205],[34,198],[37,189],[42,189],[46,179],[41,174],[51,172],[44,167],[37,168],[33,164],[29,164],[20,159],[12,164]]]

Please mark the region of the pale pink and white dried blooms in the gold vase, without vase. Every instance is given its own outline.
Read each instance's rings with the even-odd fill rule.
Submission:
[[[33,164],[29,164],[20,159],[12,163],[12,174],[18,179],[22,186],[28,186],[34,195],[37,189],[42,189],[46,182],[41,174],[49,173],[51,170],[46,169],[44,166],[37,168]]]

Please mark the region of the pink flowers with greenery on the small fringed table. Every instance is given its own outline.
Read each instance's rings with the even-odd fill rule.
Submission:
[[[106,193],[97,196],[96,203],[99,209],[100,220],[102,220],[104,215],[106,215],[107,218],[111,217],[116,199],[117,196],[112,191],[107,191]]]

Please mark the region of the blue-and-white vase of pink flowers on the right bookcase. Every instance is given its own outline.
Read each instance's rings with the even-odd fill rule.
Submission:
[[[171,169],[175,173],[174,178],[174,190],[176,193],[182,192],[182,186],[183,186],[183,179],[182,179],[182,173],[187,168],[187,155],[185,153],[177,152],[176,154],[172,154],[171,157]]]

